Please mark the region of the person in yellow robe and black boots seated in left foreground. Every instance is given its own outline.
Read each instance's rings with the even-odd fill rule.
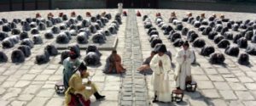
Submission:
[[[73,75],[68,81],[69,87],[67,92],[65,92],[66,105],[69,106],[69,103],[72,102],[70,93],[82,95],[84,101],[90,101],[91,95],[94,95],[97,100],[105,98],[105,96],[99,94],[96,85],[90,81],[90,74],[87,72],[86,65],[81,63],[77,70],[73,72]],[[88,82],[83,84],[83,78],[88,78]]]

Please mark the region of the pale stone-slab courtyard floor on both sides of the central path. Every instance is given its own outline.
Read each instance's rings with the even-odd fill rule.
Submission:
[[[196,92],[185,92],[182,103],[151,103],[154,96],[152,91],[151,75],[143,75],[137,72],[137,67],[143,63],[151,52],[148,35],[143,27],[143,17],[137,17],[139,10],[147,14],[154,21],[155,13],[160,12],[166,23],[171,12],[177,13],[178,20],[186,14],[187,10],[176,9],[125,9],[128,16],[122,17],[123,24],[120,25],[118,34],[118,53],[127,69],[122,75],[106,75],[102,73],[106,59],[111,51],[100,51],[102,53],[101,66],[89,67],[90,75],[94,75],[92,81],[96,83],[99,91],[106,95],[106,99],[96,101],[91,97],[91,106],[256,106],[256,57],[250,55],[251,67],[237,64],[237,58],[225,55],[225,66],[209,64],[208,57],[199,55],[200,48],[195,49],[196,60],[200,65],[192,66],[192,76],[198,83]],[[85,17],[85,12],[92,15],[101,14],[103,11],[111,13],[116,9],[73,9],[73,10],[52,10],[53,14],[59,12],[70,14],[75,11]],[[225,14],[231,20],[256,20],[256,14],[230,13],[216,11],[190,11],[193,16],[206,13]],[[26,17],[34,17],[40,13],[46,16],[49,10],[45,11],[17,11],[0,13],[0,18],[7,18],[9,21]],[[112,20],[110,20],[111,22]],[[169,23],[168,23],[169,24]],[[160,38],[166,47],[172,52],[172,63],[178,47],[173,47],[160,28],[153,24],[160,32]],[[172,25],[172,24],[169,24]],[[197,31],[192,25],[184,23],[184,26]],[[207,45],[215,46],[214,42],[206,36],[199,36],[206,40]],[[35,56],[40,50],[53,40],[45,41],[42,45],[35,45],[32,48],[32,55],[26,58],[22,64],[12,64],[9,58],[8,63],[0,64],[0,106],[63,106],[64,97],[55,93],[55,83],[61,81],[63,66],[58,64],[61,55],[51,57],[48,64],[34,64]],[[216,47],[216,46],[215,46]],[[2,47],[0,50],[3,50]],[[13,49],[4,50],[10,57]],[[216,47],[218,52],[224,53],[224,49]],[[244,51],[244,49],[241,49]],[[61,52],[61,51],[60,51]],[[84,59],[85,51],[81,51]],[[170,73],[170,83],[174,89],[173,72]]]

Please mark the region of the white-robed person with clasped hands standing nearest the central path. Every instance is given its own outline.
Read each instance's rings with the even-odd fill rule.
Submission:
[[[166,55],[166,45],[162,44],[155,48],[158,54],[155,54],[150,62],[150,68],[153,70],[152,85],[154,89],[154,100],[156,102],[171,102],[171,87],[168,72],[171,70],[171,60]]]

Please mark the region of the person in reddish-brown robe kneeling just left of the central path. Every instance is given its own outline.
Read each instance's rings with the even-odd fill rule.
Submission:
[[[123,73],[125,68],[121,64],[121,57],[117,54],[116,50],[113,50],[106,61],[104,73]]]

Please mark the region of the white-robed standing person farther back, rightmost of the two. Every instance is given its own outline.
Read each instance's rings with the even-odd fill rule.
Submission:
[[[193,51],[189,49],[189,42],[183,43],[183,48],[180,49],[175,57],[177,61],[177,69],[175,70],[174,81],[177,89],[185,89],[186,77],[191,77],[191,63],[195,56]]]

